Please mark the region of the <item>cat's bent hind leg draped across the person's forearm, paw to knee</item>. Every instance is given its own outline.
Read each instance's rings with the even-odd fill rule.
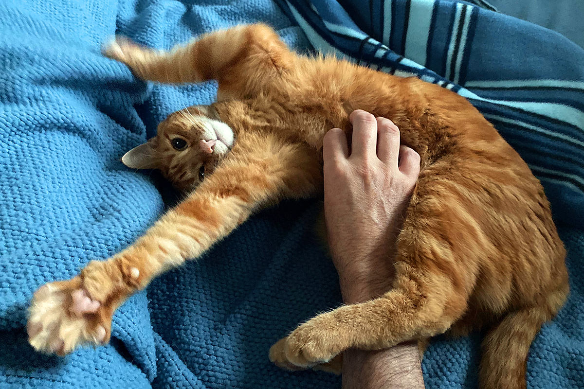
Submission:
[[[308,320],[272,346],[270,360],[282,367],[314,367],[349,348],[385,349],[442,334],[464,313],[466,296],[447,276],[404,262],[396,268],[393,290]]]

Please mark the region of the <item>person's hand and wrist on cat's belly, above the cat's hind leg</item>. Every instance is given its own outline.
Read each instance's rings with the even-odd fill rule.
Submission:
[[[391,255],[420,172],[420,156],[400,145],[399,129],[363,110],[350,114],[351,153],[345,133],[324,137],[325,221],[345,303],[390,289]]]

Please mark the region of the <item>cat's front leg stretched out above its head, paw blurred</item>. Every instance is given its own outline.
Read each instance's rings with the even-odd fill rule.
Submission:
[[[204,34],[172,51],[155,51],[117,37],[103,46],[106,57],[126,64],[136,76],[162,83],[215,79],[243,96],[290,66],[295,55],[266,24],[245,24]]]

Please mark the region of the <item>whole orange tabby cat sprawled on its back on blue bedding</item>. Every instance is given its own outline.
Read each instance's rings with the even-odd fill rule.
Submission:
[[[349,132],[349,113],[361,108],[394,121],[421,156],[393,288],[312,318],[270,359],[314,367],[347,348],[488,325],[482,388],[526,387],[530,344],[568,293],[565,250],[539,181],[467,100],[416,78],[300,57],[262,24],[169,53],[117,40],[105,54],[145,80],[217,79],[218,101],[169,115],[155,138],[124,156],[189,194],[126,250],[37,290],[34,348],[64,355],[107,342],[114,310],[153,277],[199,257],[261,206],[320,194],[322,138],[333,127]]]

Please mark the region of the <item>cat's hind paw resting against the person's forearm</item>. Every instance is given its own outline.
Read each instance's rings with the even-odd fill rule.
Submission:
[[[332,334],[319,327],[311,320],[296,328],[270,348],[270,360],[288,370],[314,368],[319,365],[327,365],[325,369],[330,366],[332,370],[338,370],[334,363],[329,362],[344,348],[338,338],[331,337]]]

